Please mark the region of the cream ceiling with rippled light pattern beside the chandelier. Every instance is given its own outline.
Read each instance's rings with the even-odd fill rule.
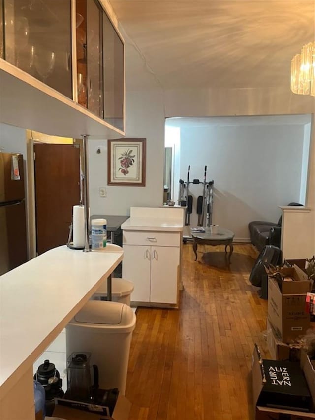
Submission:
[[[163,89],[289,86],[293,55],[314,40],[314,0],[110,3]]]

